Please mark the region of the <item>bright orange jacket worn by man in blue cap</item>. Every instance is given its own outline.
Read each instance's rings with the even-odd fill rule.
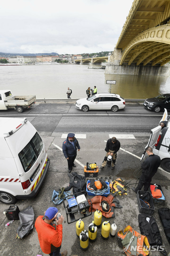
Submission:
[[[44,221],[44,216],[39,216],[35,221],[40,247],[43,253],[53,252],[62,243],[62,224],[49,225]]]

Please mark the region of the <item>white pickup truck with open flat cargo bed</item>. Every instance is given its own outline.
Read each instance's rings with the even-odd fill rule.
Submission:
[[[17,112],[22,113],[23,108],[30,108],[35,104],[34,96],[13,96],[10,90],[0,90],[0,110],[14,108]]]

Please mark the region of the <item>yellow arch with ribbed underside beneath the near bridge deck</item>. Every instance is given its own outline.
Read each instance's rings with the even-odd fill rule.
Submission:
[[[170,24],[140,34],[122,51],[120,65],[163,66],[170,61]]]

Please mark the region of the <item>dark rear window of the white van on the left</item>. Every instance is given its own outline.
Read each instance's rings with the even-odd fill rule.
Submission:
[[[43,141],[40,135],[36,132],[31,141],[18,154],[25,172],[29,171],[35,163],[42,148]]]

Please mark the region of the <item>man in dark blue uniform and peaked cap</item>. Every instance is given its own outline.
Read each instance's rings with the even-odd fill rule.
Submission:
[[[74,160],[77,155],[77,149],[80,151],[78,140],[74,136],[74,133],[69,133],[62,146],[63,154],[68,162],[69,173],[71,173],[72,167],[76,167]]]

